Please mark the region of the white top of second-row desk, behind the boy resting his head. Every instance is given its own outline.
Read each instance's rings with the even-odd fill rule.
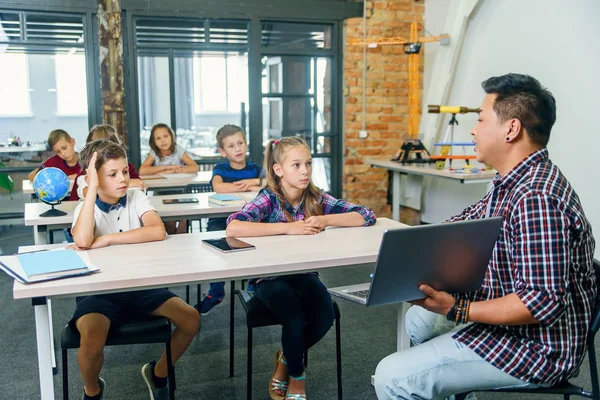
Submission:
[[[208,203],[208,196],[212,193],[190,193],[174,194],[164,196],[151,196],[148,199],[150,204],[156,208],[161,217],[189,217],[189,216],[217,216],[222,214],[231,214],[239,211],[242,206],[213,206]],[[249,202],[256,197],[256,192],[231,193]],[[163,204],[164,199],[183,199],[196,198],[198,203],[186,204]],[[56,209],[66,212],[66,215],[60,217],[40,217],[40,214],[50,209],[50,206],[41,202],[25,204],[25,226],[40,225],[65,225],[73,222],[73,213],[79,201],[64,201]]]

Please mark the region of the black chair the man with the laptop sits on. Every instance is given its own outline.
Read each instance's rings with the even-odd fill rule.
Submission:
[[[600,261],[594,260],[594,271],[596,272],[597,282],[600,283]],[[581,386],[570,382],[560,382],[548,388],[537,389],[493,389],[488,392],[506,392],[506,393],[530,393],[530,394],[556,394],[563,395],[563,399],[570,399],[571,396],[581,396],[588,399],[600,400],[600,386],[598,385],[598,367],[596,365],[596,348],[594,339],[600,328],[600,292],[596,297],[596,309],[592,315],[592,325],[590,326],[590,335],[588,337],[588,362],[590,364],[590,378],[592,381],[592,391],[586,390]]]

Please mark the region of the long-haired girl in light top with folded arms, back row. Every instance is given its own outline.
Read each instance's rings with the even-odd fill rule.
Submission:
[[[160,173],[196,173],[200,167],[177,144],[175,132],[167,124],[156,124],[150,130],[150,153],[140,166],[140,174],[153,175]],[[159,192],[157,192],[159,193]],[[184,219],[165,223],[169,234],[187,232]]]

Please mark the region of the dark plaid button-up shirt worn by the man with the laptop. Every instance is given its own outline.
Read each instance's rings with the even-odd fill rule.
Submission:
[[[453,337],[504,372],[534,384],[576,376],[597,292],[595,241],[579,198],[541,149],[521,161],[479,203],[449,221],[504,217],[481,288],[484,301],[516,293],[539,324],[469,324]]]

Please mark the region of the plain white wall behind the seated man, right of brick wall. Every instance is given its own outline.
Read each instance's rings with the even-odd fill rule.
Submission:
[[[453,11],[451,3],[456,1],[426,0],[427,31],[443,31],[441,15],[449,15]],[[600,150],[598,21],[597,0],[480,0],[467,29],[448,103],[479,106],[484,96],[481,82],[490,76],[517,72],[540,80],[557,101],[557,122],[548,146],[550,157],[579,194],[600,242],[600,164],[595,162]],[[435,51],[428,49],[427,80],[434,59]],[[459,117],[461,125],[455,140],[471,140],[469,129],[475,119],[474,114]],[[440,221],[483,193],[481,185],[437,180],[426,193],[423,220]],[[600,257],[600,245],[596,257]]]

